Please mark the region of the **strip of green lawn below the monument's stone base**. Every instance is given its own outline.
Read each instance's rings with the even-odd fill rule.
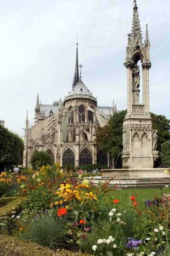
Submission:
[[[139,204],[139,207],[142,207],[142,204],[149,199],[150,201],[153,201],[153,199],[157,196],[162,198],[161,195],[161,189],[117,189],[117,192],[111,192],[113,195],[113,199],[119,199],[121,205],[127,205],[129,204],[129,197],[132,195],[136,195],[136,200]],[[163,188],[162,194],[169,193],[170,194],[170,188]]]

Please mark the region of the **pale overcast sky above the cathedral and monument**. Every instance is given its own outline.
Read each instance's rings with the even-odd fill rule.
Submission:
[[[170,119],[170,0],[137,0],[150,39],[150,111]],[[0,119],[24,135],[42,104],[72,89],[78,35],[82,81],[99,106],[127,107],[127,34],[133,0],[0,0]],[[143,43],[144,43],[143,38]],[[141,76],[142,77],[142,76]],[[141,87],[140,87],[141,88]]]

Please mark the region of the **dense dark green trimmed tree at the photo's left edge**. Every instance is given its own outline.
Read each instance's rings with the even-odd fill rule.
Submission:
[[[23,161],[23,139],[17,134],[8,131],[0,122],[0,159],[4,156],[2,164],[22,164]]]

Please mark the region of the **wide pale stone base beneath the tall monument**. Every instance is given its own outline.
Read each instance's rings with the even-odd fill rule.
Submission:
[[[165,169],[106,169],[102,177],[94,177],[94,184],[109,181],[111,186],[117,184],[118,189],[128,188],[158,188],[161,186],[170,188],[170,174]]]

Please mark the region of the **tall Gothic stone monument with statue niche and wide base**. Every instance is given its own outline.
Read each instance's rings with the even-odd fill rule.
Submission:
[[[133,3],[132,31],[127,35],[124,63],[127,69],[127,114],[123,120],[123,169],[105,170],[102,178],[116,175],[113,183],[117,182],[122,187],[158,187],[161,184],[169,186],[170,175],[164,169],[153,168],[154,161],[159,156],[156,151],[159,134],[152,128],[149,111],[150,41],[146,25],[146,37],[144,44],[142,43],[136,0]],[[140,87],[142,103],[139,100]]]

